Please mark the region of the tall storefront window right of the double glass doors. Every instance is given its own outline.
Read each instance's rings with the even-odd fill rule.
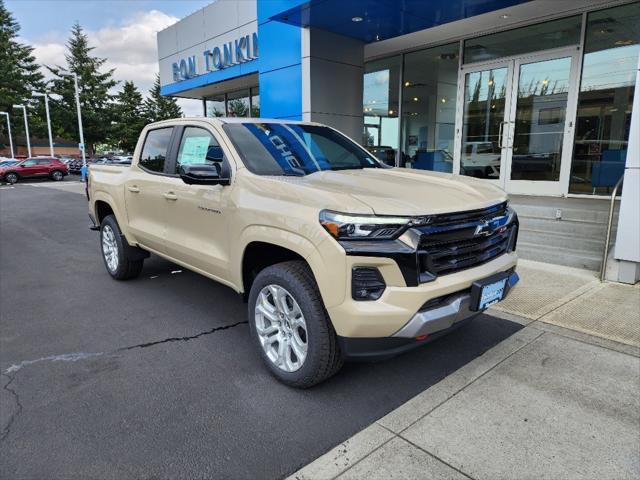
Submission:
[[[590,13],[569,192],[606,194],[624,173],[638,54],[640,3]]]

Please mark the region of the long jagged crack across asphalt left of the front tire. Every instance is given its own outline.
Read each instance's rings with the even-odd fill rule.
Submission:
[[[20,403],[20,396],[13,388],[10,388],[10,385],[15,380],[17,372],[23,367],[26,367],[28,365],[33,365],[35,363],[41,363],[41,362],[77,362],[78,360],[85,360],[87,358],[113,355],[118,352],[126,352],[128,350],[133,350],[135,348],[153,347],[155,345],[160,345],[162,343],[188,342],[189,340],[194,340],[196,338],[200,338],[205,335],[211,335],[212,333],[215,333],[215,332],[237,327],[238,325],[242,325],[243,323],[249,323],[249,322],[244,320],[241,322],[230,323],[228,325],[222,325],[220,327],[213,327],[209,330],[205,330],[204,332],[200,332],[195,335],[189,335],[185,337],[169,337],[163,340],[157,340],[155,342],[139,343],[137,345],[131,345],[129,347],[121,347],[115,350],[111,350],[109,352],[63,353],[61,355],[50,355],[48,357],[37,358],[35,360],[24,360],[20,363],[12,364],[4,372],[1,372],[0,375],[4,375],[9,379],[9,381],[4,385],[3,390],[6,390],[7,392],[9,392],[9,394],[15,399],[17,408],[16,408],[16,411],[11,414],[11,416],[9,417],[9,421],[7,422],[6,426],[3,428],[2,434],[0,435],[0,442],[4,441],[9,436],[9,433],[11,433],[11,427],[13,423],[15,422],[16,418],[22,413],[23,408],[22,408],[22,403]]]

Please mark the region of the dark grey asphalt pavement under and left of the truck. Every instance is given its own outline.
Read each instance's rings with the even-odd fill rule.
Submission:
[[[487,315],[427,346],[278,383],[246,304],[157,257],[106,273],[86,200],[0,187],[0,477],[285,477],[522,328]]]

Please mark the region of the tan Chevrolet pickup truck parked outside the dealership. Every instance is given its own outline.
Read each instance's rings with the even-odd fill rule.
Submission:
[[[502,190],[388,167],[317,123],[154,123],[130,167],[91,167],[87,195],[112,277],[153,253],[243,294],[265,364],[297,387],[423,345],[518,281]]]

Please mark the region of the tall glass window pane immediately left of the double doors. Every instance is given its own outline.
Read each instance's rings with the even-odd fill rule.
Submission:
[[[400,166],[451,172],[459,43],[405,55]]]

